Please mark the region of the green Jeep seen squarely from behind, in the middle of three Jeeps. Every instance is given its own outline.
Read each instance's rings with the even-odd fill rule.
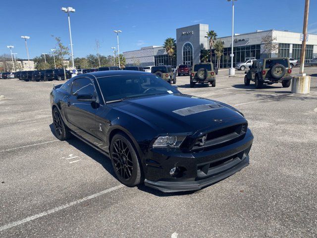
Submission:
[[[194,64],[190,74],[190,87],[193,88],[196,83],[210,83],[211,87],[216,86],[216,76],[212,63]]]

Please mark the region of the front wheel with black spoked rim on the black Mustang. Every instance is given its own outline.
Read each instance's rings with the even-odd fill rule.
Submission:
[[[143,181],[141,165],[131,140],[123,133],[113,136],[110,158],[114,173],[121,183],[133,187]]]

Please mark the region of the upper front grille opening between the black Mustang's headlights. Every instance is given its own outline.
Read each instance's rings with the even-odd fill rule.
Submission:
[[[248,124],[243,123],[207,132],[194,142],[192,150],[211,149],[233,143],[243,138],[247,128]]]

